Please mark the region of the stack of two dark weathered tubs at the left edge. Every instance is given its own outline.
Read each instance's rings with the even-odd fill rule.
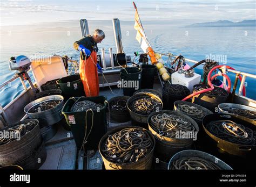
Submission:
[[[18,139],[12,140],[0,145],[0,166],[17,165],[23,169],[38,169],[46,160],[47,153],[40,134],[38,120],[26,119],[19,121],[16,124],[5,127],[3,131],[29,122],[35,123],[35,127],[22,135],[19,141]]]

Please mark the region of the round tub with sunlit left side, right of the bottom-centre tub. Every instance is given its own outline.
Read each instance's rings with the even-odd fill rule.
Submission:
[[[155,148],[154,154],[157,155],[160,160],[166,160],[166,159],[170,159],[174,154],[180,152],[181,150],[191,149],[193,147],[193,139],[192,138],[190,139],[169,138],[169,137],[160,135],[157,131],[155,131],[151,124],[151,117],[161,113],[174,114],[179,118],[189,121],[194,126],[196,132],[199,131],[199,128],[196,121],[194,121],[192,118],[186,116],[181,112],[162,110],[159,112],[151,113],[147,118],[147,123],[149,125],[150,132],[154,135],[154,138],[156,139],[156,148]]]

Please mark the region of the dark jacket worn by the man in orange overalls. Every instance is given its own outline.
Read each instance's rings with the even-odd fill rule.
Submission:
[[[87,35],[87,37],[84,37],[74,43],[74,48],[78,50],[79,45],[83,45],[85,48],[89,49],[91,52],[93,51],[93,48],[97,48],[97,43],[93,40],[91,35]],[[84,53],[80,53],[80,57],[82,60],[85,59]]]

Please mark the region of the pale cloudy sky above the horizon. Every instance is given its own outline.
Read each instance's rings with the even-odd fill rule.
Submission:
[[[50,23],[63,20],[134,20],[132,1],[0,0],[0,26]],[[255,19],[255,2],[135,1],[142,21],[168,20],[193,24],[207,21]]]

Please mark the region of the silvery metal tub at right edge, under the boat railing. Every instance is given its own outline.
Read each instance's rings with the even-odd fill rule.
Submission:
[[[240,105],[240,104],[234,104],[234,103],[221,103],[218,105],[218,109],[219,109],[219,113],[227,113],[227,114],[233,114],[235,116],[239,116],[241,118],[246,118],[246,119],[250,119],[252,120],[252,123],[254,125],[256,125],[256,116],[255,118],[249,118],[246,116],[242,116],[242,115],[238,115],[235,113],[229,113],[228,111],[225,111],[225,108],[235,108],[235,109],[241,109],[241,110],[248,110],[248,111],[252,111],[252,112],[256,112],[256,109],[250,106],[246,106],[246,105]]]

